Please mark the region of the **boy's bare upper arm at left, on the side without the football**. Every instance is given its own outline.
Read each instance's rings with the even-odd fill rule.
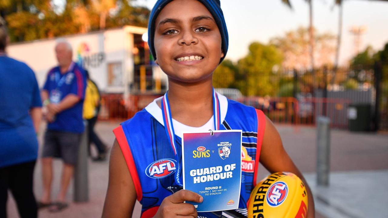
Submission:
[[[132,217],[135,202],[135,185],[133,185],[120,145],[115,140],[109,159],[109,183],[102,218]]]

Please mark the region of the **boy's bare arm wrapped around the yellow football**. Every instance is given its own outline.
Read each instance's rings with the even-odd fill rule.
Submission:
[[[302,173],[295,166],[294,162],[284,150],[281,137],[272,121],[266,116],[265,132],[260,153],[260,163],[270,171],[275,173],[287,171],[297,175],[305,184],[308,196],[307,218],[315,217],[314,199],[310,187],[303,177]]]

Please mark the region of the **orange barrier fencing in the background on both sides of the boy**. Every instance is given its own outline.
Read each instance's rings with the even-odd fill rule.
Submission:
[[[127,100],[122,94],[102,95],[100,120],[122,121],[131,118],[152,100],[161,95],[130,95]],[[294,97],[242,97],[242,104],[262,110],[272,122],[277,124],[315,125],[318,116],[331,119],[331,127],[348,128],[347,109],[349,99],[302,98]]]

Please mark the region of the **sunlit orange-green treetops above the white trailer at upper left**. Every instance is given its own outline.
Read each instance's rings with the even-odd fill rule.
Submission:
[[[51,0],[0,0],[11,42],[86,33],[124,25],[147,26],[149,10],[131,0],[67,0],[64,9]],[[112,12],[113,11],[113,12]],[[105,24],[106,22],[106,24]]]

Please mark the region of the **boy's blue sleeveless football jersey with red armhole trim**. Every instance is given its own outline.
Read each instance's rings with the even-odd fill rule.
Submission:
[[[222,123],[220,129],[242,130],[241,194],[239,209],[236,211],[246,216],[249,195],[256,185],[265,115],[253,107],[227,99],[218,93],[217,95]],[[137,200],[142,204],[142,218],[154,216],[165,197],[182,189],[174,180],[178,161],[182,166],[182,132],[214,129],[213,118],[202,127],[186,126],[173,119],[178,153],[176,160],[157,100],[113,130],[132,176]],[[182,176],[182,172],[180,175]],[[204,212],[198,213],[198,217],[215,218],[221,214],[222,211]]]

